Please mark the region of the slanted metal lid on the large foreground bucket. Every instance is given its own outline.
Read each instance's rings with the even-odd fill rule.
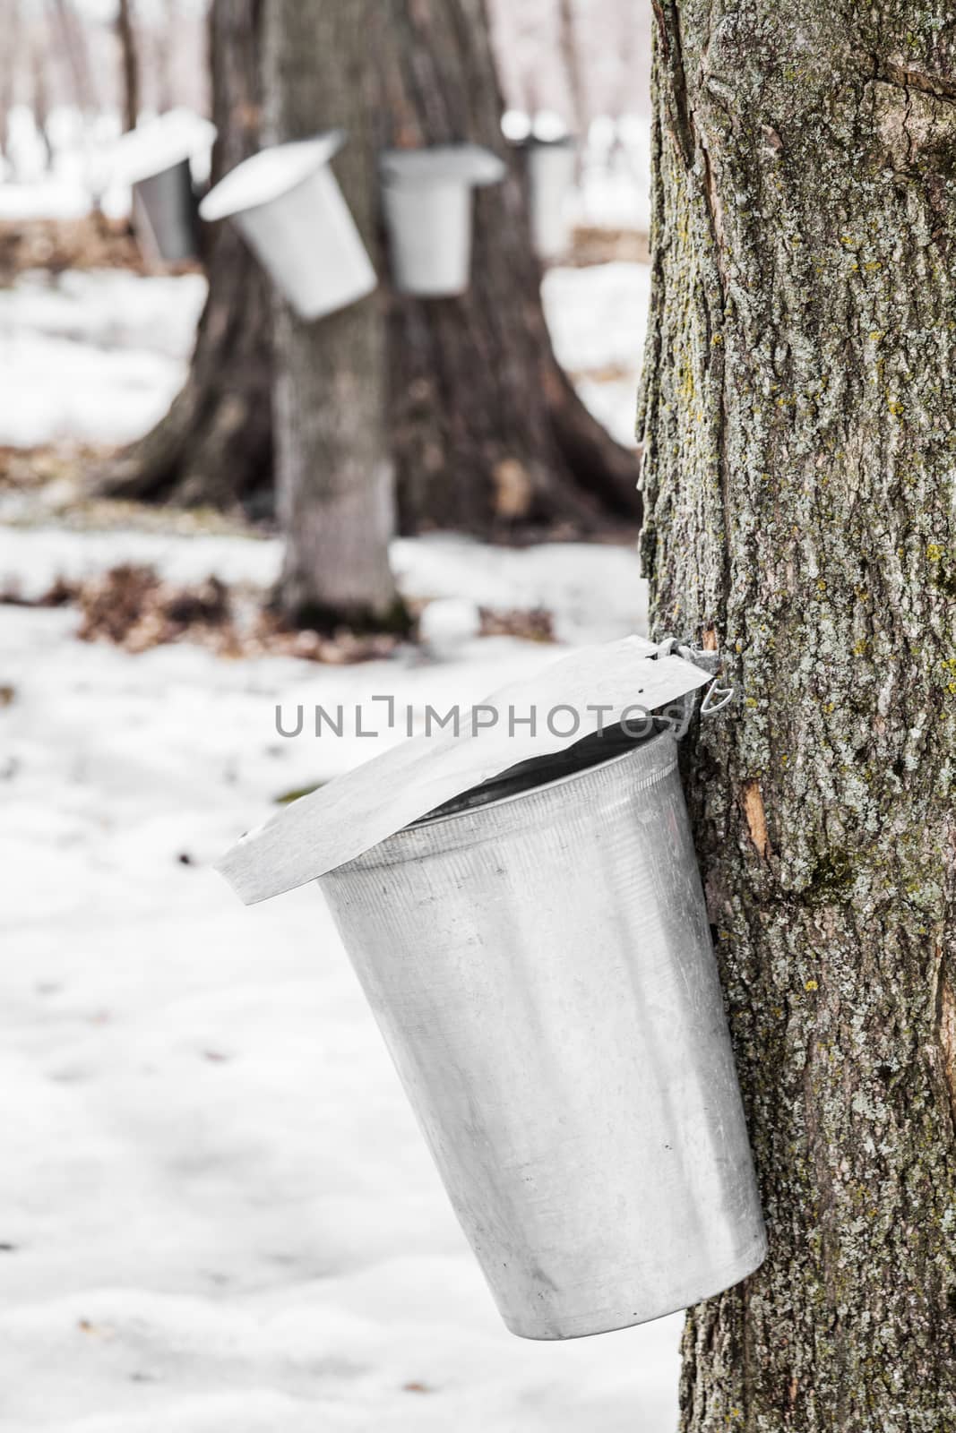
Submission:
[[[247,906],[278,896],[519,762],[563,751],[622,718],[636,721],[638,709],[651,712],[709,681],[699,666],[662,655],[645,638],[580,648],[479,702],[457,731],[414,737],[300,797],[236,841],[216,870]],[[532,712],[533,728],[526,722]],[[573,731],[568,712],[578,716]]]

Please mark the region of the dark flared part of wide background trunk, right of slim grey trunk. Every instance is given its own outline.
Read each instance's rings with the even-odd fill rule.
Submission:
[[[391,428],[401,527],[493,533],[515,523],[636,519],[635,460],[591,417],[550,347],[520,158],[484,0],[388,0],[383,146],[469,139],[510,158],[474,196],[472,285],[462,298],[394,295]]]

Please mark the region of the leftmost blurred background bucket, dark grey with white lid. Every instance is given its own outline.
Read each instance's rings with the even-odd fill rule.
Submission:
[[[113,148],[113,178],[132,186],[133,228],[153,264],[182,264],[199,252],[191,160],[212,148],[215,135],[206,119],[169,110]]]

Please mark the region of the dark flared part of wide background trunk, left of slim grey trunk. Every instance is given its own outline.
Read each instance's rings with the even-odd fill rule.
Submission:
[[[215,182],[259,148],[259,0],[214,0],[209,19]],[[169,413],[126,449],[99,486],[182,506],[272,506],[268,281],[224,222],[208,238],[209,295],[189,377]]]

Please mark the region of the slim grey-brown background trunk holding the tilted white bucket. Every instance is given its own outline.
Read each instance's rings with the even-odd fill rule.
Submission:
[[[345,202],[374,242],[373,42],[377,0],[265,11],[267,142],[341,126]],[[381,623],[400,605],[388,539],[394,473],[386,437],[386,328],[378,295],[302,322],[275,301],[275,492],[285,557],[282,608],[298,622]]]

